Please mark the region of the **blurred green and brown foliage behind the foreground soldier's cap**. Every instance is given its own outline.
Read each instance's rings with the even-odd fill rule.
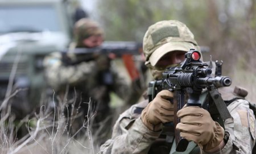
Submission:
[[[147,27],[160,20],[187,24],[197,43],[210,49],[204,60],[223,60],[222,74],[250,90],[249,100],[256,102],[255,0],[98,0],[96,6],[106,40],[142,42]]]

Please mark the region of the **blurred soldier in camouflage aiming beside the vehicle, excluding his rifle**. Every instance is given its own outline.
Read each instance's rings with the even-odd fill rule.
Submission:
[[[67,101],[69,116],[72,116],[72,104],[79,109],[79,122],[72,124],[72,134],[82,126],[88,110],[88,116],[95,114],[92,119],[96,128],[102,120],[111,117],[110,92],[126,100],[127,91],[130,91],[124,78],[112,65],[111,56],[72,53],[75,48],[94,48],[102,44],[104,32],[96,22],[88,18],[80,19],[75,23],[74,36],[75,41],[67,53],[51,53],[44,59],[47,83],[59,98],[57,102]],[[104,131],[106,133],[107,130]]]

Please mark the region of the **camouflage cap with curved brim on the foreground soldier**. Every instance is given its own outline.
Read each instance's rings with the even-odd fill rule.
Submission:
[[[151,25],[143,38],[146,65],[155,66],[168,52],[188,52],[191,48],[200,52],[192,32],[184,23],[177,20],[163,20]]]

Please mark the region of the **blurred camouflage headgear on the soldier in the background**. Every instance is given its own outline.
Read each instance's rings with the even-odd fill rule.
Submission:
[[[92,19],[82,18],[75,23],[73,34],[77,45],[81,45],[82,40],[93,35],[103,35],[104,32]]]

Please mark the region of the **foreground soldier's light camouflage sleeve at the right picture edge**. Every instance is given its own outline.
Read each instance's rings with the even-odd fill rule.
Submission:
[[[252,153],[255,144],[255,116],[249,109],[249,102],[238,99],[228,106],[228,110],[232,118],[224,121],[226,145],[217,153]]]

